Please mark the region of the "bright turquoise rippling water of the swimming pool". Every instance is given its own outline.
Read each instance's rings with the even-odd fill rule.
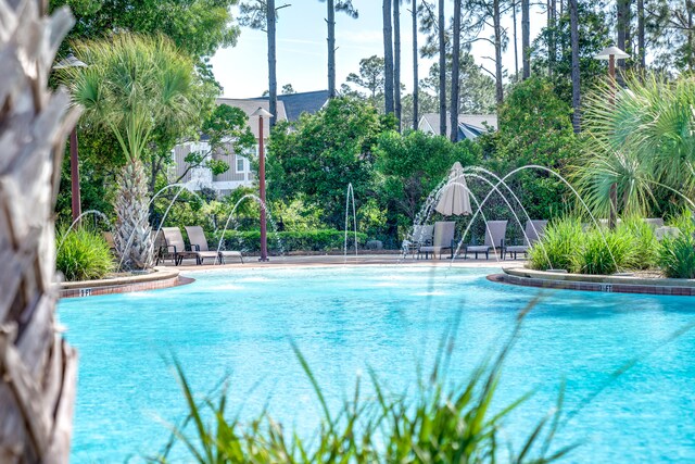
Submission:
[[[176,355],[195,391],[230,374],[230,410],[270,413],[312,429],[319,414],[292,353],[307,358],[329,402],[372,367],[395,392],[413,387],[447,327],[460,318],[448,378],[465,379],[509,334],[536,290],[490,283],[494,269],[349,266],[195,273],[168,290],[63,300],[59,315],[79,350],[72,459],[141,462],[156,453],[185,402],[167,359]],[[611,383],[560,431],[583,443],[565,462],[695,462],[695,300],[593,292],[546,293],[529,314],[506,363],[506,404],[536,394],[509,421],[527,436],[556,400],[576,409],[628,360]],[[656,350],[656,351],[655,351]],[[182,462],[189,460],[182,459]]]

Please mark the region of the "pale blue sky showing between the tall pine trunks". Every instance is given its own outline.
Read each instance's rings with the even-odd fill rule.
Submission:
[[[296,91],[327,88],[326,3],[319,0],[276,0],[276,5],[290,3],[279,12],[277,24],[277,78],[278,89],[292,84]],[[410,3],[409,1],[407,2]],[[381,1],[353,0],[359,17],[353,20],[345,14],[336,15],[336,74],[337,87],[345,81],[350,73],[359,68],[359,60],[372,54],[383,55]],[[447,16],[453,3],[447,0]],[[409,11],[401,8],[402,80],[407,91],[412,89],[412,25]],[[233,9],[235,17],[238,9]],[[520,17],[517,17],[519,21]],[[503,23],[508,28],[509,47],[503,57],[503,65],[514,72],[514,46],[511,43],[511,18]],[[545,26],[545,14],[536,7],[531,12],[531,39]],[[520,27],[520,24],[518,25]],[[484,34],[490,34],[485,32]],[[520,30],[519,30],[520,34]],[[420,43],[424,37],[420,34]],[[492,47],[477,42],[471,50],[476,62],[493,70],[494,64],[483,57],[494,55]],[[264,33],[248,27],[241,29],[237,47],[220,49],[212,59],[215,77],[224,87],[228,98],[257,97],[268,88],[267,42]],[[429,72],[433,60],[420,59],[420,78]]]

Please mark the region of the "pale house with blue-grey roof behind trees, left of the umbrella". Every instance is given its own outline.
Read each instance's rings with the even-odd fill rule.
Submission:
[[[318,90],[312,92],[290,93],[278,96],[277,121],[293,122],[299,120],[302,113],[316,113],[328,101],[328,91]],[[267,97],[252,99],[217,99],[217,104],[228,104],[239,108],[247,116],[251,116],[258,108],[269,111],[269,102]],[[249,117],[247,123],[251,128],[254,137],[258,138],[258,120]],[[263,125],[263,138],[268,139],[269,124],[267,121]],[[255,147],[257,154],[258,147]],[[170,183],[176,181],[179,177],[180,183],[186,185],[189,190],[200,190],[201,188],[213,188],[220,195],[227,195],[238,187],[251,187],[255,180],[255,173],[251,171],[249,162],[249,153],[235,153],[230,145],[227,146],[227,153],[213,153],[214,159],[224,160],[229,164],[229,170],[223,174],[214,176],[207,167],[197,167],[187,170],[187,163],[184,161],[186,155],[194,152],[210,152],[210,143],[205,137],[201,137],[200,141],[188,142],[176,146],[172,150],[175,166],[170,170],[168,179]],[[185,174],[186,173],[186,174]]]

